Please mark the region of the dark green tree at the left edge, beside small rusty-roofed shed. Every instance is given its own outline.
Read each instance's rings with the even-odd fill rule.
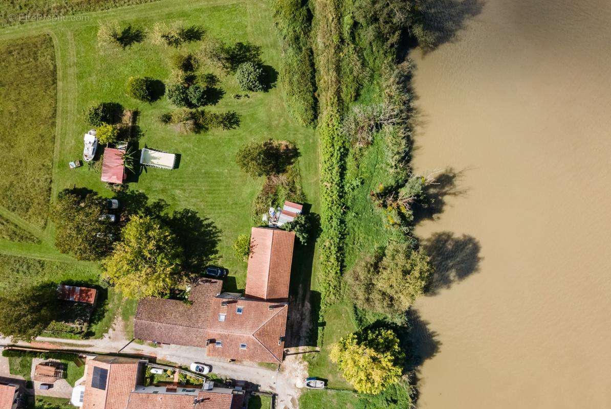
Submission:
[[[53,284],[13,288],[0,295],[0,334],[13,341],[32,341],[55,318],[57,292]]]

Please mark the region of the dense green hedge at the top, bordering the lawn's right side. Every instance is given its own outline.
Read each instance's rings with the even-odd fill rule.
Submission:
[[[310,29],[312,13],[303,0],[275,0],[274,21],[282,43],[280,82],[287,109],[300,125],[316,120],[316,81]]]

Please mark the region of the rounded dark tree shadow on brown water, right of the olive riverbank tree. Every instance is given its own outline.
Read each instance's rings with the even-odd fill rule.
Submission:
[[[427,288],[430,295],[480,270],[481,245],[475,237],[455,237],[450,231],[441,231],[426,239],[423,246],[435,269]]]

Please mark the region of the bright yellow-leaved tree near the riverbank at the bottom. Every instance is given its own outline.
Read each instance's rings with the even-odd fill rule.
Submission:
[[[330,358],[359,393],[378,394],[401,380],[405,353],[392,330],[377,328],[344,336]]]

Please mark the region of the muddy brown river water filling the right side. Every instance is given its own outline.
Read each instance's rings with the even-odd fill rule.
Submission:
[[[420,408],[611,408],[611,1],[445,1],[415,60]]]

